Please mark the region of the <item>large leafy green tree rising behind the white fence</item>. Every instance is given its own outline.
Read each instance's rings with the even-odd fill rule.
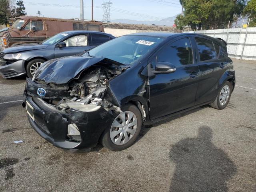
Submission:
[[[180,0],[180,4],[184,7],[180,24],[200,30],[227,27],[234,14],[241,15],[246,0]]]

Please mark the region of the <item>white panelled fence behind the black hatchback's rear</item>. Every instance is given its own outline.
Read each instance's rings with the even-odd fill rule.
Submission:
[[[256,60],[256,27],[190,31],[219,37],[228,43],[231,58]]]

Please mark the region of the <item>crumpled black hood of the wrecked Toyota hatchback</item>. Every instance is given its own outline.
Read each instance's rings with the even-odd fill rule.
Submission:
[[[66,84],[78,76],[84,69],[102,60],[107,63],[121,65],[118,62],[103,57],[63,57],[45,62],[36,71],[34,79],[43,80],[46,83]]]

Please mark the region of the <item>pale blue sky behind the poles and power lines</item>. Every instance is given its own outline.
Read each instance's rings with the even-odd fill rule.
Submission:
[[[104,0],[94,0],[94,6],[101,7],[103,1]],[[105,2],[106,1],[108,0],[105,0]],[[113,9],[110,9],[110,19],[160,20],[180,14],[181,12],[181,6],[178,0],[111,0],[111,2],[113,2]],[[24,0],[27,14],[36,16],[37,10],[40,10],[45,17],[80,17],[79,7],[44,6],[42,3],[79,6],[80,0]],[[84,0],[84,6],[91,6],[91,0]],[[119,12],[114,9],[119,10]],[[123,11],[120,12],[120,9],[144,15],[136,16],[134,14],[125,14],[122,13]],[[102,15],[102,8],[94,8],[94,20],[102,20]],[[148,18],[147,15],[154,18]],[[91,8],[84,8],[84,19],[91,19]]]

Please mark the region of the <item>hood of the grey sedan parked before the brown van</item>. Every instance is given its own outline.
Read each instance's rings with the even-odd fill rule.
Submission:
[[[3,50],[3,53],[18,53],[22,51],[30,51],[30,50],[38,50],[38,49],[45,49],[47,45],[40,45],[40,44],[23,44],[15,47],[6,48]]]

